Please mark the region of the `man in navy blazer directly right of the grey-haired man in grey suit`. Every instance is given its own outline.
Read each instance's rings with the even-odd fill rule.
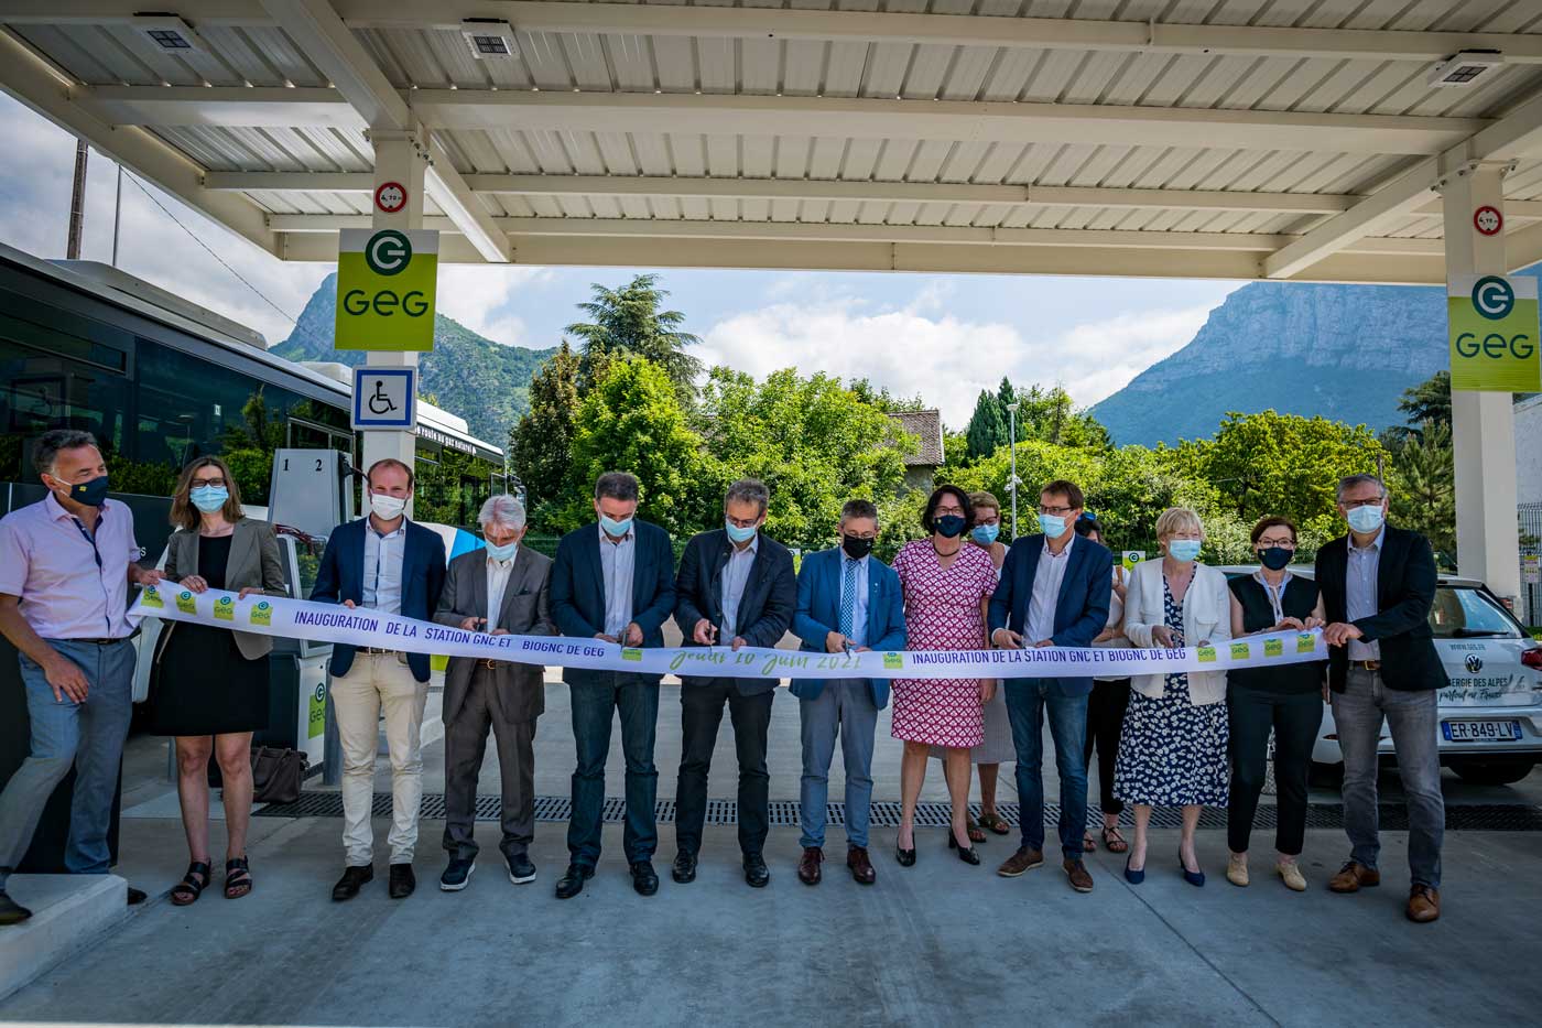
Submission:
[[[564,636],[601,639],[625,647],[663,647],[663,624],[674,613],[674,545],[669,533],[637,520],[638,482],[625,471],[608,471],[594,485],[598,525],[584,525],[557,543],[552,563],[552,621]],[[574,770],[572,820],[567,823],[567,871],[557,881],[557,898],[583,892],[600,861],[604,812],[604,759],[611,752],[611,721],[621,718],[621,755],[626,758],[626,827],[621,846],[640,895],[658,891],[654,850],[658,829],[654,801],[658,769],[654,735],[658,729],[660,675],[563,668],[572,704]]]

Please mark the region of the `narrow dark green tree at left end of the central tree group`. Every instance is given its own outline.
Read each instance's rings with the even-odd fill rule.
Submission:
[[[577,412],[578,355],[563,340],[530,380],[530,412],[509,432],[509,463],[524,486],[530,520],[543,528],[552,526],[566,506]]]

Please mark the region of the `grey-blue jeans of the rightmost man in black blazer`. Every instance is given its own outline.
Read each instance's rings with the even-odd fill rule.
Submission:
[[[1434,690],[1388,688],[1379,671],[1349,668],[1345,692],[1332,695],[1334,725],[1345,755],[1345,834],[1349,857],[1375,867],[1382,852],[1375,793],[1382,721],[1392,730],[1397,775],[1408,803],[1408,871],[1414,884],[1440,888],[1445,796],[1440,793],[1440,732]]]

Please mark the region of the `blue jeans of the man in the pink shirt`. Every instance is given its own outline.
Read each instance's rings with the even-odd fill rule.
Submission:
[[[26,857],[37,820],[54,787],[76,769],[69,806],[69,841],[65,869],[79,875],[103,875],[111,863],[106,834],[113,820],[113,796],[123,763],[123,741],[134,713],[134,647],[46,641],[86,676],[85,702],[60,701],[29,656],[17,654],[26,713],[31,719],[31,753],[0,793],[0,889]]]

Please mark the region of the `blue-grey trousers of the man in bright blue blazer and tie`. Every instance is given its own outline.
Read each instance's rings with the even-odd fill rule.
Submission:
[[[873,812],[873,730],[877,707],[867,679],[831,681],[814,699],[797,702],[803,733],[803,778],[797,800],[802,821],[799,846],[825,844],[830,806],[830,759],[840,736],[840,756],[847,769],[847,843],[867,847],[867,827]]]

